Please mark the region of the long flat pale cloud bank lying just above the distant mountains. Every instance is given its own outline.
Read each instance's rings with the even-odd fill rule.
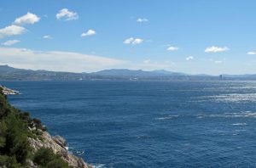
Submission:
[[[26,48],[0,48],[0,64],[32,70],[84,72],[122,68],[126,61],[84,53],[33,51]]]

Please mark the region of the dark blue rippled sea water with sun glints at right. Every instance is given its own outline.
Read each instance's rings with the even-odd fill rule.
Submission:
[[[256,167],[253,81],[1,83],[98,167]]]

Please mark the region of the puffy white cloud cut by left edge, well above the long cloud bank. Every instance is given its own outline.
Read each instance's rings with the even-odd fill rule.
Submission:
[[[5,36],[20,35],[25,32],[26,32],[26,29],[24,27],[21,27],[18,25],[9,25],[3,29],[0,29],[0,38],[3,38]]]

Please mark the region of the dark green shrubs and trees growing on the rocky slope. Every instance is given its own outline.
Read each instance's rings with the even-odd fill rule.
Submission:
[[[40,120],[12,107],[0,88],[0,167],[27,167],[27,160],[34,160],[38,167],[69,167],[48,148],[33,154],[27,137],[40,138],[45,130]]]

